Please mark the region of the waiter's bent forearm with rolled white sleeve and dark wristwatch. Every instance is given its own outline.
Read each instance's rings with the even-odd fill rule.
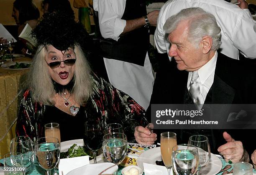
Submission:
[[[127,21],[121,19],[125,10],[125,2],[125,0],[93,1],[94,10],[98,11],[102,37],[118,41],[121,34],[140,28],[145,24],[144,17]],[[156,25],[158,13],[158,10],[148,13],[148,21],[151,25]]]

